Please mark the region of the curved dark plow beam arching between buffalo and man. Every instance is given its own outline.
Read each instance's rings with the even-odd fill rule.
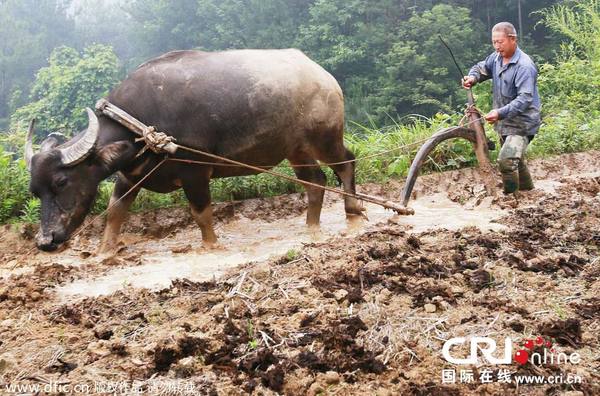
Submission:
[[[415,156],[415,159],[410,165],[410,170],[408,171],[408,176],[406,177],[406,184],[402,190],[401,203],[403,206],[406,206],[410,200],[410,195],[412,194],[417,177],[419,177],[421,166],[423,165],[423,162],[425,162],[425,159],[427,159],[429,153],[431,153],[433,149],[435,149],[440,143],[448,139],[456,138],[467,139],[473,143],[473,145],[477,145],[477,136],[474,130],[465,127],[451,127],[437,132],[431,138],[429,138],[429,140],[426,141],[423,146],[421,146],[417,152],[417,155]]]

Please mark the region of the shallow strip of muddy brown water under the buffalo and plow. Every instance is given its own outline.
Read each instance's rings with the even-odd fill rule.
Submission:
[[[140,252],[142,264],[118,268],[94,279],[83,279],[57,289],[62,300],[110,294],[125,287],[153,290],[169,287],[171,281],[185,278],[195,282],[209,281],[240,264],[260,262],[272,256],[281,256],[292,249],[300,249],[303,243],[325,241],[333,236],[351,237],[373,225],[394,217],[394,222],[407,226],[408,232],[430,229],[460,229],[476,226],[483,230],[499,230],[504,226],[493,221],[505,212],[491,209],[485,204],[474,210],[456,204],[445,196],[436,194],[411,202],[414,216],[394,217],[384,208],[367,204],[369,222],[348,222],[343,202],[338,201],[323,208],[320,231],[309,230],[304,215],[276,222],[241,218],[218,227],[220,248],[214,250],[190,250],[173,253],[181,247],[198,246],[200,231],[186,228],[176,236],[163,240],[137,243],[130,250]]]

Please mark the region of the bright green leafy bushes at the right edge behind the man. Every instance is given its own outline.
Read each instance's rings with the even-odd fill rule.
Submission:
[[[545,10],[544,23],[565,35],[557,64],[544,64],[539,86],[543,125],[533,155],[600,147],[600,1]]]

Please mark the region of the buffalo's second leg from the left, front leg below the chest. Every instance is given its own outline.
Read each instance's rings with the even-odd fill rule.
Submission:
[[[213,228],[212,206],[210,203],[210,177],[183,184],[183,191],[190,202],[192,216],[202,231],[202,243],[212,247],[217,243]]]

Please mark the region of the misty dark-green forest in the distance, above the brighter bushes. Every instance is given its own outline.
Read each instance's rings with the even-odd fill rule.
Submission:
[[[430,116],[464,101],[438,34],[466,67],[491,51],[491,26],[509,20],[522,25],[525,49],[541,59],[555,49],[548,41],[552,26],[538,24],[543,15],[532,12],[556,2],[40,0],[33,6],[33,0],[5,0],[0,32],[10,48],[0,56],[0,119],[27,102],[51,49],[94,43],[112,46],[127,70],[175,49],[297,47],[338,79],[348,118],[385,124],[412,113]]]

